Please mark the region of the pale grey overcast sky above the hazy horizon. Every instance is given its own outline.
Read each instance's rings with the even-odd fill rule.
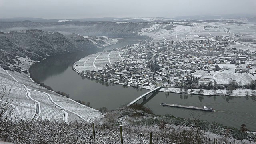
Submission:
[[[256,15],[256,0],[0,0],[0,18],[173,18],[220,14]]]

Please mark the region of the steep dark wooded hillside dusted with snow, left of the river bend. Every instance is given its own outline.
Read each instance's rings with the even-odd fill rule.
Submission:
[[[101,44],[97,44],[101,46]],[[0,65],[4,69],[17,70],[19,57],[42,60],[47,56],[66,54],[97,48],[91,41],[77,34],[64,36],[58,32],[26,30],[0,33]]]

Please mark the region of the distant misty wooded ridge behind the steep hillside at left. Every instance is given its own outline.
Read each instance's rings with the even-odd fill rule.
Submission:
[[[60,32],[62,34],[76,33],[90,36],[135,36],[142,28],[148,28],[148,23],[117,23],[117,22],[0,22],[0,31],[10,32],[38,29],[43,31]]]

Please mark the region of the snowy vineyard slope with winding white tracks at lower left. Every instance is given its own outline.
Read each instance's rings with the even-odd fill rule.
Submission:
[[[34,83],[27,74],[0,68],[1,88],[10,90],[9,98],[16,120],[87,121],[102,118],[101,112],[84,106]],[[5,100],[5,99],[3,99]],[[2,101],[1,101],[2,102]]]

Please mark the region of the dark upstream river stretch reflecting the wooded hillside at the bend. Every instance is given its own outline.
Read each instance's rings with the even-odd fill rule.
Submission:
[[[68,67],[72,66],[77,60],[80,60],[85,56],[94,54],[96,52],[101,52],[103,50],[110,50],[113,48],[124,47],[130,44],[136,44],[142,40],[144,40],[144,37],[125,38],[124,41],[117,44],[113,44],[111,46],[106,46],[105,48],[88,48],[88,50],[82,52],[74,52],[71,54],[47,58],[41,62],[33,64],[30,67],[30,76],[33,77],[33,79],[39,80],[40,82],[44,82],[47,78],[50,78],[51,76],[59,75],[65,72],[68,69]]]

